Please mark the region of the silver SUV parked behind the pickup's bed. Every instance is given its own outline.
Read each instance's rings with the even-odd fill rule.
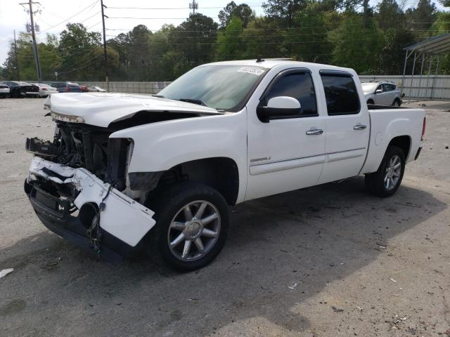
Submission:
[[[367,104],[371,105],[401,105],[401,91],[392,82],[361,83]]]

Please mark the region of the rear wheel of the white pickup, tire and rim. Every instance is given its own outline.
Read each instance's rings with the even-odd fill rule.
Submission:
[[[378,171],[366,174],[368,192],[377,197],[390,197],[400,187],[405,171],[405,154],[397,146],[387,147]]]

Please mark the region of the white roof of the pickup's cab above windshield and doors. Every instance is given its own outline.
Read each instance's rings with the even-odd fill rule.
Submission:
[[[323,65],[321,63],[312,63],[312,62],[300,62],[300,61],[293,61],[289,59],[283,59],[283,58],[266,58],[262,59],[259,62],[257,62],[256,59],[252,60],[235,60],[235,61],[221,61],[221,62],[212,62],[207,63],[205,65],[243,65],[248,67],[264,67],[271,69],[273,67],[276,67],[277,65],[292,65],[293,67],[304,67],[308,68],[309,70],[343,70],[343,71],[350,71],[349,68],[344,67],[336,67],[335,65]]]

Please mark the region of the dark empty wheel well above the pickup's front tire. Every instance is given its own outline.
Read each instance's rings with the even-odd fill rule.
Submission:
[[[167,170],[160,178],[158,187],[183,180],[203,183],[216,189],[230,205],[236,204],[238,199],[239,173],[233,159],[214,157],[186,161]]]

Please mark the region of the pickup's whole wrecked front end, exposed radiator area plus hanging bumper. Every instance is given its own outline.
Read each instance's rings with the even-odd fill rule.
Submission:
[[[56,120],[53,141],[28,138],[32,159],[25,192],[39,219],[61,237],[117,260],[153,225],[145,192],[127,182],[131,140],[114,129]]]

